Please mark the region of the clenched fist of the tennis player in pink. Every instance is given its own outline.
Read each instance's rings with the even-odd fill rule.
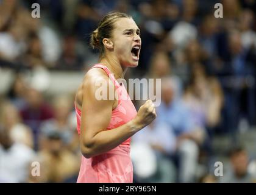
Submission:
[[[141,105],[138,110],[136,120],[138,124],[142,127],[148,126],[154,119],[157,117],[155,113],[155,105],[151,99],[145,102],[145,104]]]

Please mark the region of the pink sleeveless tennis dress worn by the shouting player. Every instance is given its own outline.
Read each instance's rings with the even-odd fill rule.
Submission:
[[[112,118],[107,130],[126,124],[137,115],[124,85],[120,85],[107,66],[100,64],[92,68],[102,68],[108,74],[118,92],[118,106],[112,110]],[[124,97],[126,98],[121,98]],[[77,132],[80,135],[81,112],[76,107]],[[130,159],[130,138],[114,149],[92,158],[82,156],[77,182],[87,183],[132,183],[133,167]]]

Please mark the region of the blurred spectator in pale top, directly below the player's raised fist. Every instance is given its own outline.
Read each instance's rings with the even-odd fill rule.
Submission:
[[[168,125],[152,122],[132,138],[132,144],[144,143],[151,147],[157,159],[154,174],[148,178],[137,176],[137,180],[140,182],[176,182],[176,169],[169,158],[176,150],[176,137],[172,133]],[[144,163],[147,163],[146,159]]]

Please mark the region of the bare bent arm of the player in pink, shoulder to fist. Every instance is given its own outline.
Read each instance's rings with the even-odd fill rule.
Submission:
[[[155,115],[155,108],[152,101],[146,102],[139,110],[138,115],[123,126],[116,129],[106,130],[112,117],[114,100],[97,100],[95,80],[108,83],[107,76],[94,74],[85,78],[83,86],[82,116],[80,149],[86,158],[110,151],[133,134],[143,129],[152,122]],[[113,85],[113,83],[108,83]]]

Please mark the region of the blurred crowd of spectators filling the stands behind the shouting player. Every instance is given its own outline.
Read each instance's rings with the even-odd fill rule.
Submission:
[[[162,79],[157,119],[132,138],[134,182],[255,182],[255,0],[0,0],[0,182],[76,182],[74,95],[113,10],[141,29],[126,77]]]

